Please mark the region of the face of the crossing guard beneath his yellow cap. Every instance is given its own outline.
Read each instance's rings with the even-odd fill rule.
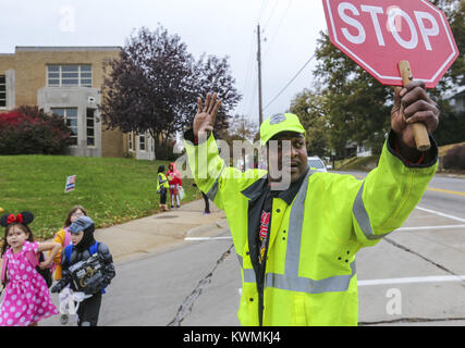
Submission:
[[[277,146],[270,144],[273,140],[277,141]],[[285,150],[289,147],[286,147],[283,141],[290,142],[290,151]],[[270,163],[271,161],[276,161],[274,163],[277,163],[278,166],[274,165],[274,167],[278,167],[278,171],[290,171],[291,183],[298,181],[305,173],[307,169],[307,158],[305,138],[299,133],[279,133],[268,141],[268,169],[272,169],[273,165],[270,165]],[[282,173],[269,172],[270,181],[280,181],[282,175]]]

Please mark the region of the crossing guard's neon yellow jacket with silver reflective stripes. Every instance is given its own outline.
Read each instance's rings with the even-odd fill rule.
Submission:
[[[238,320],[259,325],[249,248],[258,231],[249,231],[249,217],[267,172],[227,167],[213,136],[203,145],[184,144],[199,189],[227,214],[242,273]],[[437,154],[436,145],[432,151]],[[308,170],[290,203],[273,198],[262,324],[357,325],[355,254],[402,226],[435,175],[436,159],[407,166],[387,141],[378,166],[364,181]]]

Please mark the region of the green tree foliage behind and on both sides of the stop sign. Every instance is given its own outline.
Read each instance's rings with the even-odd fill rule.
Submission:
[[[460,52],[465,51],[465,1],[435,0],[446,14]],[[315,86],[298,94],[291,111],[298,114],[307,128],[310,152],[318,154],[335,149],[344,157],[351,142],[381,150],[390,128],[393,90],[336,49],[325,33],[320,33],[316,49],[318,64],[314,71]],[[463,87],[465,57],[462,53],[440,84],[429,94],[441,110],[440,126],[435,133],[439,145],[465,140],[463,115],[450,105],[450,97]]]

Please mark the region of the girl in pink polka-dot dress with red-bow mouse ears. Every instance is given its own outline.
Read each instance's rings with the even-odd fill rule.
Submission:
[[[38,259],[39,252],[51,250],[49,257],[39,264],[40,269],[46,269],[60,250],[60,244],[34,241],[33,232],[28,227],[33,220],[30,212],[0,217],[0,225],[7,227],[1,249],[1,278],[3,285],[7,285],[0,304],[0,326],[36,326],[39,320],[59,314],[46,281],[29,260],[30,257]]]

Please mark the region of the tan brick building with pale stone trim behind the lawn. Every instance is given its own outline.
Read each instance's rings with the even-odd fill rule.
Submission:
[[[155,159],[147,135],[123,134],[102,125],[103,61],[120,47],[16,47],[0,53],[0,112],[38,105],[71,128],[71,156]]]

